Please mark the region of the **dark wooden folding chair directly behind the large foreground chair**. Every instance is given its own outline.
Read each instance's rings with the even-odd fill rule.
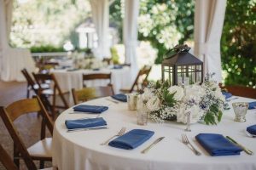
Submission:
[[[68,109],[68,104],[67,104],[67,100],[64,97],[64,93],[61,91],[61,88],[59,86],[59,83],[57,82],[55,75],[54,74],[35,74],[32,73],[33,77],[35,78],[35,80],[38,83],[39,86],[39,96],[41,96],[41,94],[44,94],[44,96],[52,96],[52,104],[49,104],[51,107],[51,111],[53,114],[53,118],[55,120],[56,118],[56,113],[57,111],[55,111],[56,108],[60,108],[60,109]],[[41,87],[41,84],[44,83],[45,81],[51,81],[52,82],[52,87],[51,89],[43,89]],[[68,92],[66,92],[65,94],[67,94]],[[56,105],[56,98],[57,95],[61,97],[61,102],[63,103],[63,105]]]

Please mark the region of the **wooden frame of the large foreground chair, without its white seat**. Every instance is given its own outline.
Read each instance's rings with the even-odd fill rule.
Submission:
[[[43,103],[38,96],[32,99],[21,99],[6,108],[3,106],[0,107],[0,114],[3,122],[7,127],[11,138],[14,140],[15,165],[20,167],[20,157],[22,157],[28,169],[37,169],[32,160],[40,161],[40,168],[44,168],[44,161],[52,161],[52,157],[30,156],[13,123],[19,116],[31,112],[38,112],[42,116],[41,139],[45,138],[45,127],[48,127],[49,133],[53,135],[53,122],[51,121]]]

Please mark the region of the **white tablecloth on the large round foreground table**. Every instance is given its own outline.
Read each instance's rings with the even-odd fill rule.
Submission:
[[[108,97],[109,98],[109,97]],[[80,131],[67,133],[65,120],[83,117],[95,117],[91,114],[71,114],[73,109],[61,113],[55,121],[53,135],[53,165],[61,170],[65,169],[256,169],[256,139],[247,137],[246,127],[256,123],[256,110],[247,111],[247,122],[234,122],[232,102],[253,101],[253,99],[239,98],[232,100],[229,111],[224,111],[222,121],[218,125],[207,126],[201,123],[191,125],[192,132],[185,132],[185,125],[177,122],[158,124],[148,121],[147,126],[137,125],[136,111],[128,111],[127,103],[114,104],[105,98],[86,102],[87,105],[108,105],[108,111],[101,116],[108,122],[108,129]],[[154,131],[154,135],[134,150],[122,150],[108,145],[101,145],[109,137],[118,133],[121,127],[126,132],[135,128]],[[189,147],[182,143],[181,134],[186,133],[195,148],[201,151],[201,156],[195,156]],[[253,150],[249,156],[244,151],[240,156],[210,156],[195,140],[198,133],[221,133],[230,136],[238,143]],[[159,144],[142,154],[141,150],[152,144],[161,136],[166,138]]]

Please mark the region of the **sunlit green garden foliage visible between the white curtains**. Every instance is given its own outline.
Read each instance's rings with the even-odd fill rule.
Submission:
[[[25,4],[15,1],[14,10],[10,43],[19,48],[58,48],[67,39],[76,44],[74,29],[90,16],[90,4],[84,0],[37,0]],[[124,0],[115,0],[109,12],[110,22],[118,27],[122,40]],[[176,44],[193,46],[194,14],[195,1],[140,0],[138,39],[150,42],[158,50],[156,64],[160,64],[167,50]],[[226,84],[256,88],[255,25],[256,0],[227,0],[221,39]],[[46,32],[30,34],[31,26],[35,31]]]

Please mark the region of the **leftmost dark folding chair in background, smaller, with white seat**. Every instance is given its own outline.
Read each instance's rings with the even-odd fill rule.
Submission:
[[[26,87],[26,98],[30,97],[30,91],[32,90],[35,94],[38,95],[38,89],[39,86],[36,82],[33,81],[32,77],[30,76],[30,74],[28,73],[28,71],[26,71],[26,69],[22,69],[21,73],[23,74],[23,76],[26,78],[26,82],[27,82],[27,87]],[[49,89],[49,84],[48,83],[42,83],[41,84],[41,88],[43,89]]]

